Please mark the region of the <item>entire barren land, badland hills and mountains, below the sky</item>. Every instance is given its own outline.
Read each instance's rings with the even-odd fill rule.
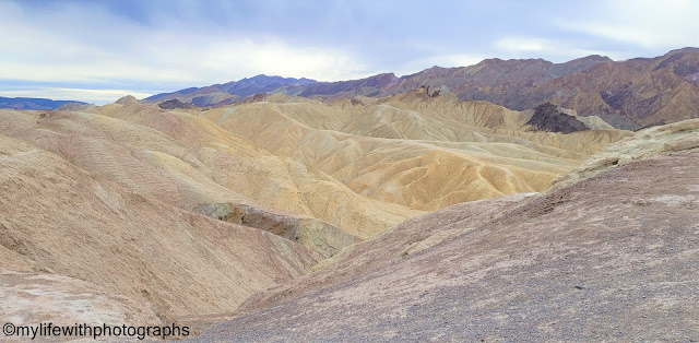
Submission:
[[[0,320],[699,340],[698,75],[682,48],[0,98]]]

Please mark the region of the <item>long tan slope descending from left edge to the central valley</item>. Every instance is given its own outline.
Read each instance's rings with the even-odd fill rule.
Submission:
[[[0,126],[105,179],[186,210],[227,202],[270,206],[360,237],[419,213],[367,199],[313,166],[274,156],[187,113],[116,104],[94,113],[4,110]]]

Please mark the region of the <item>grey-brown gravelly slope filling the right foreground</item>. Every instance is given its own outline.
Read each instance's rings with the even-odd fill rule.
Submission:
[[[698,127],[640,132],[542,197],[408,220],[196,341],[699,340]]]

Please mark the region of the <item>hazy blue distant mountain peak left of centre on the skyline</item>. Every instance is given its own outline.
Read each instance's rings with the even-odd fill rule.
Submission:
[[[173,93],[161,93],[143,99],[145,104],[157,104],[174,98],[196,106],[212,106],[233,103],[258,93],[273,93],[285,88],[288,94],[296,95],[305,86],[317,83],[310,79],[294,79],[282,76],[257,75],[253,78],[232,81],[224,84],[214,84],[205,87],[190,87]],[[296,92],[295,90],[298,90]],[[279,93],[279,92],[276,92]]]

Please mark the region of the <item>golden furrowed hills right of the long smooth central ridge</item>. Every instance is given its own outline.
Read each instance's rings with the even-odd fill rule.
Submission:
[[[531,113],[415,91],[374,104],[273,96],[201,114],[357,193],[418,210],[545,189],[615,130],[528,132]]]

